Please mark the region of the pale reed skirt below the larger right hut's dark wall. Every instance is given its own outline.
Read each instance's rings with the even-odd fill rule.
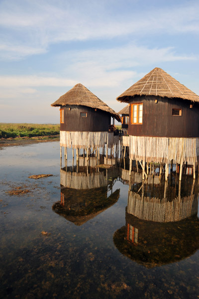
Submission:
[[[130,158],[146,162],[177,163],[199,160],[199,138],[130,136]]]

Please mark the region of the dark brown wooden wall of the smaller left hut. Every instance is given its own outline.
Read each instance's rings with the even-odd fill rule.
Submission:
[[[110,125],[110,114],[86,106],[62,106],[64,109],[64,124],[60,124],[60,131],[106,132]],[[71,110],[69,110],[71,108]],[[87,113],[81,117],[80,113]]]

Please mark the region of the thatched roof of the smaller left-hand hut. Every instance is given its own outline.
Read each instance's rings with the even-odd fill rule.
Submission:
[[[90,90],[80,83],[76,84],[72,89],[51,104],[53,107],[65,105],[80,105],[97,108],[108,112],[118,122],[121,122],[120,116],[114,110],[108,107],[97,96],[95,96]]]

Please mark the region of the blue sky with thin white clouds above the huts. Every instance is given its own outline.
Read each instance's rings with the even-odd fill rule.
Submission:
[[[77,83],[118,112],[155,67],[199,95],[199,0],[0,0],[0,123],[59,123]]]

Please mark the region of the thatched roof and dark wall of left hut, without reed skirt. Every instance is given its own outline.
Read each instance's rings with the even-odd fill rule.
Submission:
[[[107,132],[120,116],[82,84],[76,84],[51,106],[60,106],[60,131]]]

